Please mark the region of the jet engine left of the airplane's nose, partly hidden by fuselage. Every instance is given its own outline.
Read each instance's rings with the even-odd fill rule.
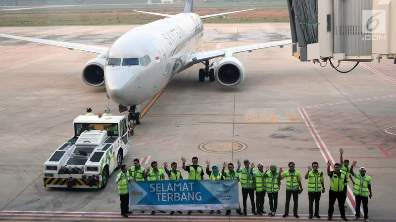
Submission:
[[[104,85],[104,58],[96,58],[85,64],[83,81],[90,86]]]

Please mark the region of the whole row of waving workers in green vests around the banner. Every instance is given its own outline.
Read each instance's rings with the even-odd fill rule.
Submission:
[[[353,184],[353,194],[356,200],[356,214],[354,220],[360,217],[360,204],[363,202],[364,219],[366,222],[368,219],[368,198],[371,198],[371,177],[366,175],[366,169],[364,167],[359,168],[359,172],[354,172],[353,167],[356,166],[356,161],[349,166],[349,161],[343,160],[344,150],[341,148],[341,164],[334,164],[334,170],[330,171],[331,162],[327,162],[327,175],[330,177],[330,190],[329,190],[329,209],[328,209],[328,220],[332,220],[334,212],[334,204],[338,200],[341,217],[344,221],[348,221],[345,215],[345,201],[347,198],[347,185],[349,178]],[[201,166],[198,165],[198,158],[192,158],[192,165],[186,166],[186,158],[181,158],[183,165],[183,170],[188,172],[188,180],[203,180],[204,171]],[[139,181],[158,181],[165,180],[163,170],[158,169],[158,163],[156,161],[151,162],[152,169],[150,167],[147,169],[143,168],[139,159],[134,159],[133,166],[128,169],[126,165],[121,166],[121,172],[117,175],[115,183],[118,184],[118,190],[120,194],[121,201],[121,215],[123,217],[128,217],[127,213],[132,213],[129,211],[129,191],[128,182],[139,182]],[[266,166],[264,171],[264,165],[262,163],[257,164],[257,170],[254,168],[255,164],[249,162],[248,159],[244,160],[244,166],[241,168],[241,162],[237,162],[238,168],[234,171],[233,163],[223,162],[223,168],[220,169],[216,164],[212,165],[212,170],[209,170],[209,161],[206,161],[206,174],[209,176],[209,180],[238,180],[241,182],[242,186],[242,196],[243,196],[243,213],[241,208],[239,208],[237,213],[239,215],[247,215],[247,196],[250,198],[251,212],[254,215],[266,214],[264,211],[264,197],[265,193],[268,194],[269,208],[270,212],[267,214],[273,217],[276,213],[278,207],[278,192],[280,190],[281,180],[286,179],[286,204],[285,204],[285,214],[284,218],[289,215],[289,205],[291,197],[293,196],[294,207],[293,215],[299,218],[297,214],[298,208],[298,194],[303,190],[301,185],[301,174],[295,170],[295,163],[289,162],[289,170],[283,172],[282,167],[279,168],[277,172],[277,166],[275,164],[271,166]],[[169,180],[183,180],[181,172],[177,170],[177,163],[173,162],[171,164],[171,170],[167,167],[167,163],[163,163],[165,173],[168,175]],[[225,168],[228,168],[228,172],[225,172]],[[317,162],[312,162],[310,166],[307,167],[307,172],[304,179],[308,180],[308,201],[309,201],[309,219],[313,216],[320,218],[319,216],[319,201],[321,193],[325,192],[324,177],[323,172],[318,171],[319,164]],[[241,173],[241,176],[239,175]],[[352,176],[355,178],[353,182]],[[254,202],[254,191],[256,193],[256,201]],[[315,202],[315,212],[313,212],[313,202]],[[162,213],[165,213],[161,211]],[[202,211],[199,211],[203,213]],[[142,211],[144,213],[144,211]],[[151,211],[153,215],[155,212]],[[182,214],[181,211],[178,213]],[[188,211],[191,214],[192,211]],[[210,214],[214,211],[211,210]],[[217,211],[218,214],[221,211]],[[170,214],[174,214],[171,211]],[[226,215],[230,215],[231,210],[227,210]]]

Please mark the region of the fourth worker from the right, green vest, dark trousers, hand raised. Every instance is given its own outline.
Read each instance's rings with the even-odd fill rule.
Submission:
[[[311,168],[312,166],[312,168]],[[308,166],[308,172],[305,174],[305,180],[308,180],[308,201],[309,201],[309,219],[313,218],[313,201],[315,201],[315,217],[320,219],[319,215],[319,201],[322,193],[325,192],[325,184],[323,172],[319,172],[319,163],[312,162]]]

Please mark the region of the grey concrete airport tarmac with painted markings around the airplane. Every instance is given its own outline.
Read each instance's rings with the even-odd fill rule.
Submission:
[[[134,27],[0,27],[0,33],[110,45]],[[199,51],[290,38],[289,23],[205,24],[204,29],[209,37]],[[130,220],[120,216],[114,183],[102,190],[43,185],[43,164],[73,135],[75,117],[85,114],[87,107],[95,113],[110,107],[112,114],[118,114],[104,87],[90,87],[81,79],[82,67],[96,55],[5,38],[0,38],[0,53],[0,221]],[[202,167],[206,160],[221,166],[224,161],[236,165],[238,160],[249,159],[255,165],[276,164],[284,171],[293,161],[303,177],[307,166],[316,161],[325,175],[326,193],[320,199],[319,213],[326,219],[326,161],[340,162],[339,148],[344,148],[344,159],[357,161],[357,167],[365,166],[372,176],[370,220],[395,221],[396,179],[389,173],[395,169],[396,136],[385,131],[396,126],[393,61],[364,63],[341,74],[329,64],[300,62],[292,56],[291,46],[239,53],[237,58],[246,67],[246,78],[235,87],[199,82],[202,66],[196,65],[143,104],[142,124],[130,137],[131,148],[123,163],[131,166],[134,158],[140,158],[143,167],[154,160],[158,166],[177,162],[187,178],[181,169],[182,156],[187,164],[197,156]],[[338,69],[353,66],[354,62],[342,62]],[[111,175],[109,182],[114,180]],[[301,183],[298,220],[304,221],[308,217],[307,180]],[[234,211],[231,216],[225,212],[190,216],[134,212],[130,216],[135,221],[280,221],[284,220],[285,184],[282,181],[273,218],[253,216],[249,199],[248,216]],[[352,188],[349,182],[345,209],[350,220],[355,206]],[[286,219],[297,220],[292,201],[290,205]],[[269,212],[268,196],[264,211]],[[334,215],[333,219],[340,220],[337,203]]]

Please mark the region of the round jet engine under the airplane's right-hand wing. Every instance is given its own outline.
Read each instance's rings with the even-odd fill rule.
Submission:
[[[214,75],[220,85],[239,84],[245,78],[244,64],[235,57],[225,57],[217,63]]]

